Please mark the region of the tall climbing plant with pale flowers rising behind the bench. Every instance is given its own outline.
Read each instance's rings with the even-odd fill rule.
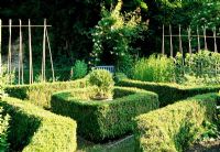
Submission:
[[[141,39],[141,32],[146,30],[146,25],[141,22],[140,9],[134,12],[121,13],[122,0],[111,11],[102,6],[102,19],[92,30],[94,48],[91,52],[91,64],[97,65],[102,61],[101,55],[109,54],[114,58],[118,67],[127,66],[133,61],[121,62],[135,51],[132,43]],[[125,57],[127,58],[127,57]]]

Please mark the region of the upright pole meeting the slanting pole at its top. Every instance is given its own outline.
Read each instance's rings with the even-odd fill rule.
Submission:
[[[45,61],[46,61],[46,19],[44,19],[44,35],[43,35],[43,56],[42,56],[42,80],[46,80]]]

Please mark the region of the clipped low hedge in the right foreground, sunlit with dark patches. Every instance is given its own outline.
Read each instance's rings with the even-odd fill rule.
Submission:
[[[216,116],[217,100],[217,94],[205,94],[136,117],[136,151],[184,151]]]

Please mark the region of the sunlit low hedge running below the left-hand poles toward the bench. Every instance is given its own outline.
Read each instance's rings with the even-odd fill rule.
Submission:
[[[64,89],[85,87],[86,80],[78,79],[74,82],[42,83],[33,85],[8,86],[4,91],[11,97],[26,99],[34,105],[48,109],[51,107],[51,95]]]

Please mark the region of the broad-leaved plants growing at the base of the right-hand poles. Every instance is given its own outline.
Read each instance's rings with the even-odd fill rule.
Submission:
[[[195,54],[177,54],[176,83],[183,85],[220,84],[220,54],[202,50]]]

